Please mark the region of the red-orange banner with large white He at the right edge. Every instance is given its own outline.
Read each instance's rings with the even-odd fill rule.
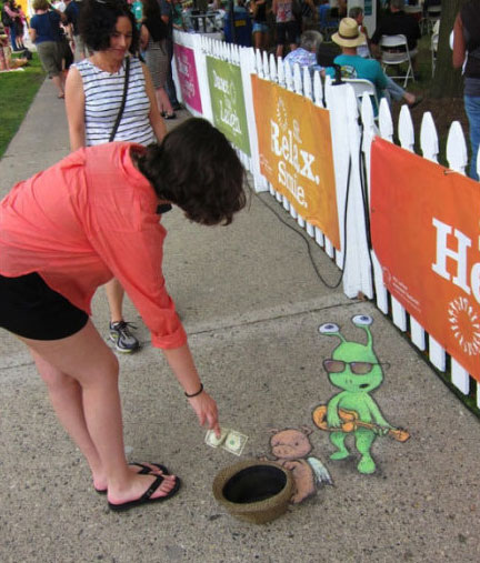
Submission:
[[[480,184],[377,138],[372,243],[383,282],[480,381]]]

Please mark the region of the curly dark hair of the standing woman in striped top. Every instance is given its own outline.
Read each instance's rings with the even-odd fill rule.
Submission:
[[[130,6],[124,0],[83,0],[80,3],[79,31],[84,43],[92,51],[104,51],[110,47],[110,37],[117,20],[122,16],[132,26],[130,52],[137,53],[139,31]]]

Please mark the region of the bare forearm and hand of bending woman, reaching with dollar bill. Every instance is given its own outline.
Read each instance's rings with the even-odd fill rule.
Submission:
[[[163,354],[183,391],[189,395],[197,393],[201,389],[201,381],[188,344],[172,350],[163,350]],[[188,401],[196,412],[200,425],[203,426],[203,424],[207,423],[208,428],[214,430],[216,434],[219,436],[220,426],[214,400],[207,391],[202,391]]]

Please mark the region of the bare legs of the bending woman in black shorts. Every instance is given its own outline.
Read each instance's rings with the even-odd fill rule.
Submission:
[[[100,338],[93,324],[72,336],[56,341],[21,339],[32,350],[44,381],[54,381],[56,411],[71,438],[97,465],[93,481],[104,481],[110,502],[122,503],[140,497],[154,481],[153,475],[132,473],[127,464],[123,448],[118,362]],[[63,376],[60,376],[62,374]],[[80,390],[69,379],[78,382]],[[63,386],[68,389],[61,389]],[[81,408],[79,404],[81,393]],[[70,412],[68,412],[70,411]],[[90,440],[87,438],[90,436]],[[97,453],[94,453],[97,452]],[[152,499],[163,496],[174,485],[174,477],[164,476]]]

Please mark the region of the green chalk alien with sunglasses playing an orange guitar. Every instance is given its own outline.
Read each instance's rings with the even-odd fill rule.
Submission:
[[[376,471],[370,450],[379,435],[389,435],[400,442],[410,438],[407,431],[394,429],[387,422],[370,395],[383,381],[382,368],[373,350],[372,322],[373,319],[366,314],[352,318],[352,323],[366,331],[367,344],[347,341],[334,323],[319,326],[321,334],[337,336],[341,341],[333,350],[332,358],[323,361],[323,368],[330,382],[342,391],[333,395],[327,405],[317,406],[312,413],[314,424],[330,432],[330,441],[337,448],[331,460],[343,460],[350,455],[346,439],[353,433],[356,448],[361,455],[357,469],[364,474]]]

